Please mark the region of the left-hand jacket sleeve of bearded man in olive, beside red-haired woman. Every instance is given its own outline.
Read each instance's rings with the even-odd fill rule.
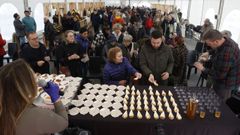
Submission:
[[[150,74],[152,74],[151,69],[148,68],[147,66],[147,58],[144,54],[144,49],[145,47],[142,47],[142,50],[140,51],[140,56],[139,56],[139,64],[140,64],[140,68],[143,71],[143,73],[148,77]]]

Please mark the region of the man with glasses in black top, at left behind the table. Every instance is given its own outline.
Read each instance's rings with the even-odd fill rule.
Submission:
[[[27,35],[28,44],[26,44],[20,52],[20,57],[26,60],[35,72],[49,73],[49,60],[47,50],[38,40],[36,32]]]

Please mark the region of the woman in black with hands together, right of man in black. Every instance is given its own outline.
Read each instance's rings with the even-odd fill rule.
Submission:
[[[65,42],[57,49],[57,57],[62,66],[67,66],[71,76],[81,76],[81,54],[80,45],[75,41],[74,31],[65,32]]]

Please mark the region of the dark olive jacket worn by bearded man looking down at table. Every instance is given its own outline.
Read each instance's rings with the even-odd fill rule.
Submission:
[[[154,49],[151,42],[143,45],[140,51],[140,68],[143,74],[148,78],[150,74],[160,82],[160,85],[166,85],[167,81],[161,80],[163,72],[172,73],[174,64],[173,54],[170,47],[161,44],[158,49]]]

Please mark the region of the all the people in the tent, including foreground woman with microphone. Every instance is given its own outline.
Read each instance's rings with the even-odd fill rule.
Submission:
[[[31,105],[36,91],[29,89],[36,90],[36,84],[29,82],[34,82],[33,72],[50,73],[49,62],[53,58],[55,64],[60,66],[60,72],[67,74],[63,69],[68,70],[68,75],[83,79],[87,77],[90,58],[101,58],[99,60],[102,66],[94,68],[103,68],[104,84],[128,85],[139,80],[138,83],[143,85],[186,85],[188,50],[181,33],[180,11],[166,13],[143,7],[104,7],[94,9],[90,16],[87,16],[86,12],[84,10],[83,17],[75,10],[63,16],[56,12],[52,18],[53,22],[45,17],[43,43],[38,39],[37,26],[34,18],[30,16],[31,11],[25,10],[22,20],[17,13],[13,15],[20,45],[17,53],[24,61],[16,60],[0,70],[0,125],[6,121],[9,124],[5,125],[12,125],[5,126],[6,130],[1,130],[0,133],[12,134],[18,131],[24,134],[24,129],[30,124],[28,119],[32,118],[30,116],[33,116],[33,113],[40,113],[40,116],[49,113]],[[86,26],[81,26],[82,18],[90,18],[91,21]],[[203,74],[208,75],[214,90],[222,98],[239,95],[240,51],[237,43],[229,37],[229,33],[214,30],[209,20],[205,20],[200,32],[202,42],[210,49],[200,56],[203,60],[194,65]],[[1,39],[0,36],[0,48],[5,44]],[[5,52],[0,50],[0,54]],[[205,61],[210,61],[211,66],[205,67]],[[16,76],[20,74],[22,76]],[[8,88],[8,84],[11,85],[11,89]],[[53,133],[67,125],[66,112],[62,109],[59,94],[56,93],[58,90],[54,84],[45,89],[55,105],[51,122],[64,124],[56,128],[42,126],[46,127],[46,133]],[[15,103],[14,98],[12,101],[11,98],[7,98],[8,92],[11,91],[15,91],[19,102],[9,104],[13,108],[11,113],[7,113],[3,100]],[[48,119],[44,116],[41,118]],[[49,127],[55,130],[48,130]],[[10,129],[14,130],[9,132]],[[37,131],[32,129],[32,132]]]

